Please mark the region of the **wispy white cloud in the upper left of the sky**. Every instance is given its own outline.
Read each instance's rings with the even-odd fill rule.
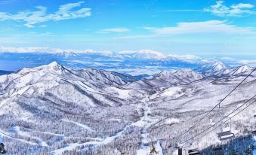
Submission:
[[[17,22],[24,22],[24,26],[29,28],[34,27],[35,24],[44,23],[47,21],[59,21],[59,20],[69,20],[82,17],[91,16],[91,8],[75,8],[81,7],[84,2],[69,3],[66,5],[60,5],[58,11],[53,14],[47,13],[47,8],[43,6],[35,7],[35,11],[21,11],[17,14],[8,14],[5,12],[0,12],[0,20],[14,20]]]

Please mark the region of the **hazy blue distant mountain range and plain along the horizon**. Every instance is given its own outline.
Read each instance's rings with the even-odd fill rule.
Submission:
[[[154,50],[110,51],[60,50],[51,48],[6,48],[0,47],[0,69],[17,71],[46,65],[53,61],[73,69],[97,68],[149,77],[160,71],[190,68],[203,74],[224,71],[228,63],[216,59],[203,59],[193,55],[165,55]],[[237,65],[238,66],[238,65]]]

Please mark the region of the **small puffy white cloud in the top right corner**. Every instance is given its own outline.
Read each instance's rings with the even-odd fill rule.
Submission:
[[[254,5],[247,3],[239,3],[237,5],[224,5],[224,1],[218,1],[215,5],[211,5],[210,8],[205,8],[204,11],[215,14],[219,17],[239,17],[250,14],[256,14],[256,11],[252,10]]]

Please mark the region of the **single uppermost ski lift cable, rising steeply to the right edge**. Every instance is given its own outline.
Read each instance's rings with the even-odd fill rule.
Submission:
[[[200,123],[202,120],[204,120],[205,117],[208,116],[208,114],[210,114],[212,111],[214,111],[214,109],[217,108],[217,106],[221,106],[221,103],[222,103],[225,99],[227,99],[227,97],[230,96],[230,94],[233,93],[233,92],[236,90],[236,88],[238,88],[247,78],[249,78],[249,77],[251,76],[251,74],[252,74],[255,70],[256,70],[256,68],[254,68],[254,70],[251,71],[250,74],[248,74],[233,90],[231,90],[230,93],[228,93],[227,96],[224,97],[224,99],[221,99],[221,102],[218,102],[217,105],[215,105],[214,108],[212,108],[210,111],[208,111],[199,121],[197,121],[193,126],[191,126],[186,132],[180,134],[180,135],[177,136],[177,137],[183,136],[183,135],[185,135],[187,132],[189,132],[191,129],[194,129],[194,128],[196,127],[196,125],[197,125],[198,123]]]

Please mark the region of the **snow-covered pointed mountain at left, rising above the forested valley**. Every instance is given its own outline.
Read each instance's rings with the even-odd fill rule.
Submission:
[[[15,74],[2,75],[0,90],[2,97],[44,96],[51,93],[51,96],[63,102],[72,102],[70,99],[74,99],[73,102],[86,103],[85,106],[96,106],[96,102],[100,102],[101,105],[116,105],[120,99],[114,99],[113,95],[118,94],[116,91],[119,88],[111,89],[105,86],[128,84],[134,80],[131,76],[116,72],[91,68],[74,71],[57,62],[51,62],[49,65],[23,68]],[[58,91],[61,90],[65,92],[60,95]],[[73,93],[72,96],[69,93]],[[73,98],[74,96],[76,97]]]

